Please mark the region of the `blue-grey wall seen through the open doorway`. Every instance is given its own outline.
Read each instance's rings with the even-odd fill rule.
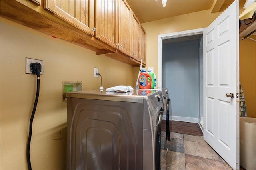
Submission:
[[[199,40],[162,44],[163,87],[167,87],[172,116],[200,116]]]

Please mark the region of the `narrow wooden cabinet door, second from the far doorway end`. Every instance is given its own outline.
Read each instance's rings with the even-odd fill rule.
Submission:
[[[140,22],[137,17],[132,13],[132,58],[140,61],[139,57],[140,47]]]

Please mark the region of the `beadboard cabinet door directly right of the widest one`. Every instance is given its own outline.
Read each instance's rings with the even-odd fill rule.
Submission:
[[[96,1],[96,37],[114,48],[117,44],[117,0]]]

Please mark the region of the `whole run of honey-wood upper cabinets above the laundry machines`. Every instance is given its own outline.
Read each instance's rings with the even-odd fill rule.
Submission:
[[[3,0],[0,5],[8,20],[133,66],[142,58],[145,66],[146,33],[126,0]]]

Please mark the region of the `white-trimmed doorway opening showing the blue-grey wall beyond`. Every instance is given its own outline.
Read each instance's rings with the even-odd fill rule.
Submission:
[[[199,123],[203,127],[204,28],[158,36],[159,87],[167,87],[170,120]],[[163,117],[164,118],[164,117]]]

